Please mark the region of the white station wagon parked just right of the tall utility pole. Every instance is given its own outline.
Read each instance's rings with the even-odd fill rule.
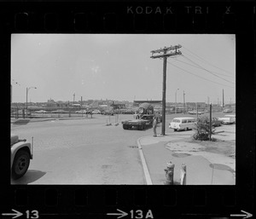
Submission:
[[[195,127],[196,118],[180,117],[173,118],[169,124],[169,129],[176,130],[192,130]]]

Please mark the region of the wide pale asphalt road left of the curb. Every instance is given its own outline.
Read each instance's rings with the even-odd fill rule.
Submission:
[[[166,115],[168,123],[183,114]],[[94,115],[93,118],[12,124],[21,139],[34,138],[34,158],[26,175],[12,184],[145,184],[137,139],[153,130],[123,130],[132,115]],[[160,134],[161,124],[157,132]]]

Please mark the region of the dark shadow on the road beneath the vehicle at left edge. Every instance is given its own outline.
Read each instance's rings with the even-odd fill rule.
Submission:
[[[22,176],[20,179],[18,180],[13,180],[11,179],[11,184],[15,185],[15,184],[29,184],[32,182],[37,181],[38,179],[40,179],[41,177],[43,177],[46,174],[46,172],[40,171],[40,170],[27,170],[26,174],[24,176]]]

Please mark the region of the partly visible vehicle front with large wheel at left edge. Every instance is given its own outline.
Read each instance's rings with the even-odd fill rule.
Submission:
[[[26,142],[26,139],[19,139],[18,135],[11,134],[11,176],[13,179],[19,179],[26,174],[30,159],[33,158],[33,145]]]

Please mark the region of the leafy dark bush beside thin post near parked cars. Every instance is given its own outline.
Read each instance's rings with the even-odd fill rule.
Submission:
[[[195,140],[209,141],[210,140],[210,129],[209,126],[210,118],[203,116],[197,119],[195,124],[195,134],[193,135]],[[212,135],[214,135],[214,130],[212,130]]]

